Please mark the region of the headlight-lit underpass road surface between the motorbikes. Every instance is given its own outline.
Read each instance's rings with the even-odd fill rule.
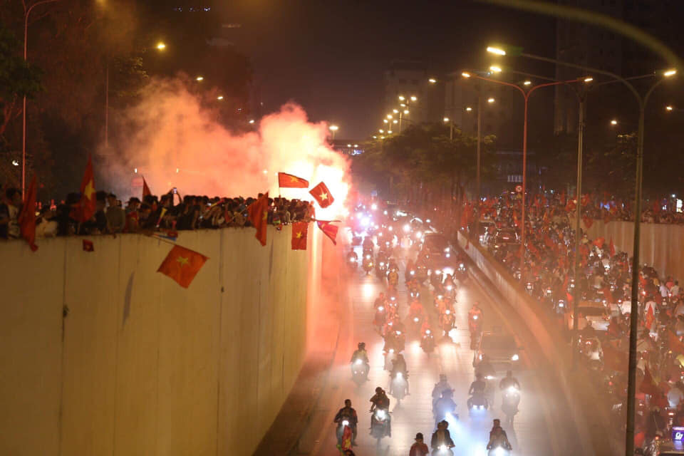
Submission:
[[[360,248],[359,248],[360,249]],[[361,251],[357,251],[361,258]],[[400,264],[400,284],[398,286],[399,313],[402,318],[408,314],[408,299],[403,284],[404,266],[411,255],[409,250],[396,247],[394,257]],[[432,388],[439,380],[440,373],[445,373],[449,383],[454,388],[454,400],[457,403],[457,413],[460,420],[450,421],[449,429],[455,440],[455,455],[484,456],[487,455],[485,446],[492,426],[492,418],[501,418],[505,423],[505,416],[501,413],[501,397],[496,393],[493,410],[478,410],[469,416],[466,401],[467,390],[475,379],[475,369],[472,366],[473,351],[470,350],[470,333],[467,329],[467,314],[475,301],[479,301],[484,313],[484,329],[491,330],[492,326],[499,326],[501,331],[510,332],[509,328],[490,301],[473,279],[467,279],[461,284],[455,304],[457,328],[450,332],[452,342],[442,341],[430,356],[420,348],[418,335],[407,326],[406,349],[404,356],[409,371],[410,395],[400,404],[393,396],[390,397],[390,411],[392,414],[392,437],[384,438],[380,447],[369,435],[370,409],[369,399],[375,387],[380,386],[388,391],[389,375],[383,369],[383,339],[374,330],[372,321],[374,315],[373,301],[386,291],[386,281],[380,281],[375,274],[363,274],[357,269],[349,274],[347,282],[348,318],[343,323],[346,331],[346,343],[338,348],[336,361],[328,378],[328,384],[323,390],[321,401],[314,412],[310,429],[301,438],[299,454],[336,455],[335,425],[332,423],[337,410],[343,407],[344,399],[351,399],[359,417],[358,447],[356,455],[408,455],[410,445],[414,442],[416,432],[423,432],[425,442],[430,444],[430,436],[434,431],[432,418]],[[423,306],[431,320],[436,319],[432,306],[432,293],[429,286],[423,286]],[[503,323],[503,324],[502,324]],[[435,328],[436,325],[432,324]],[[515,336],[517,334],[514,333]],[[351,380],[349,361],[353,349],[358,342],[366,342],[371,371],[369,381],[357,387]],[[559,417],[551,415],[562,413],[565,407],[552,391],[546,388],[546,383],[540,381],[539,373],[530,363],[534,358],[532,347],[525,347],[522,352],[521,366],[514,369],[514,376],[522,385],[522,400],[520,411],[516,415],[514,425],[504,424],[504,430],[509,435],[514,447],[514,455],[561,455],[568,454],[568,443],[574,436],[556,438],[564,432],[563,429],[549,429],[549,423],[559,422]],[[504,366],[497,367],[497,379],[492,380],[498,389],[498,383],[505,374]],[[551,419],[553,418],[553,419]],[[561,418],[560,421],[562,423]],[[573,428],[571,425],[566,430]]]

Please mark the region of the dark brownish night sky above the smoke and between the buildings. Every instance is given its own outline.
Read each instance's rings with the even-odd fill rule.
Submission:
[[[338,138],[365,138],[379,122],[383,71],[421,59],[442,71],[486,68],[494,41],[554,56],[555,23],[472,1],[239,0],[218,7],[224,36],[249,54],[264,107],[288,100],[312,120],[340,125]],[[529,62],[518,69],[551,68]]]

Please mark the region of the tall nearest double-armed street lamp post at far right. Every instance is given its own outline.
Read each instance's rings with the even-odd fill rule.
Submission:
[[[490,48],[487,48],[489,51]],[[503,54],[505,55],[504,50]],[[532,58],[534,60],[545,61],[548,63],[555,63],[556,65],[567,66],[569,68],[576,68],[582,71],[591,71],[592,73],[603,74],[610,78],[620,81],[633,93],[639,107],[639,121],[636,142],[636,178],[635,178],[635,195],[634,195],[634,239],[633,239],[633,259],[632,259],[632,283],[631,283],[631,314],[629,316],[630,330],[629,330],[629,370],[627,383],[627,423],[625,435],[625,455],[632,456],[634,454],[634,424],[635,424],[635,394],[636,394],[636,336],[638,330],[638,293],[639,293],[639,257],[641,249],[641,184],[643,181],[643,134],[644,134],[644,117],[646,113],[646,103],[648,98],[651,98],[651,93],[656,87],[665,81],[664,78],[655,81],[646,91],[645,95],[641,95],[636,88],[629,83],[626,78],[611,73],[609,71],[598,70],[596,68],[589,68],[574,63],[558,61],[553,58],[546,58],[535,56],[529,53],[517,52],[520,56]],[[665,78],[675,76],[675,70],[668,70],[663,73]],[[577,201],[578,207],[581,201]],[[579,214],[579,211],[578,211]],[[579,232],[576,232],[576,237],[579,237]],[[579,252],[576,252],[576,257]],[[576,318],[575,318],[576,321]],[[576,326],[576,323],[574,323]]]

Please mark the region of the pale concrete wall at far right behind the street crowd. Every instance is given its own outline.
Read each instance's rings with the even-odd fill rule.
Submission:
[[[594,220],[591,228],[586,229],[584,222],[582,228],[591,239],[604,237],[606,242],[610,242],[613,238],[616,249],[630,256],[634,251],[633,222],[603,223],[603,220]],[[641,264],[655,267],[658,274],[684,280],[684,225],[642,223],[639,255]]]

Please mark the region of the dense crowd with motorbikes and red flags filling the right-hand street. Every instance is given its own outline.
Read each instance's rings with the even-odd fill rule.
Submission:
[[[644,221],[664,222],[676,214],[657,202],[646,211]],[[484,198],[480,223],[485,233],[480,240],[527,292],[546,307],[562,331],[571,336],[573,312],[578,309],[577,327],[581,359],[596,382],[611,396],[615,423],[625,423],[628,366],[629,313],[631,312],[631,258],[619,252],[613,239],[589,239],[580,234],[579,269],[575,277],[574,214],[576,200],[564,193],[534,195],[527,207],[526,249],[517,235],[509,249],[501,249],[497,232],[519,232],[522,202],[517,193]],[[628,205],[609,195],[581,198],[584,227],[595,219],[608,223],[629,219]],[[658,210],[660,208],[660,210]],[[461,227],[476,228],[475,204],[462,208]],[[680,214],[676,214],[680,219]],[[482,234],[482,231],[480,233]],[[642,266],[638,306],[638,442],[667,435],[672,425],[684,425],[684,294],[678,281]],[[575,294],[577,287],[579,295]],[[575,296],[581,301],[575,303]],[[616,432],[623,432],[616,429]]]

